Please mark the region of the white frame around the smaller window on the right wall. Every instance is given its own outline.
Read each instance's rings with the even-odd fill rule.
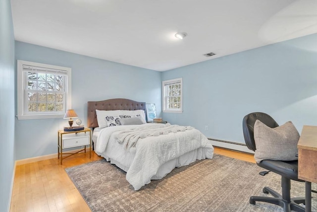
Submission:
[[[166,85],[170,83],[176,83],[177,81],[180,81],[181,85],[181,92],[180,92],[180,108],[179,109],[169,109],[167,106],[168,103],[168,95],[166,91]],[[175,78],[175,79],[169,79],[162,81],[162,112],[163,113],[183,113],[183,78]]]

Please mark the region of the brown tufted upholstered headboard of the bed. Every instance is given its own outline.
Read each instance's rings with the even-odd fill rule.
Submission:
[[[146,114],[145,102],[136,102],[130,99],[108,99],[103,101],[87,102],[87,126],[89,128],[98,127],[97,110],[144,110]]]

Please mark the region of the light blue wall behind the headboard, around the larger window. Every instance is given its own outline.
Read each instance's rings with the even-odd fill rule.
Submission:
[[[155,103],[161,111],[160,72],[15,42],[15,59],[72,69],[72,109],[87,126],[87,101],[127,98]],[[65,119],[16,120],[16,159],[57,154]]]

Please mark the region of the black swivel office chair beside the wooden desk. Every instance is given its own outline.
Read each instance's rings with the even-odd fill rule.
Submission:
[[[248,148],[253,151],[257,149],[256,143],[254,141],[254,124],[256,120],[260,120],[263,124],[270,128],[278,127],[278,124],[274,121],[274,119],[265,113],[257,112],[246,115],[243,118],[242,123],[243,136]],[[266,202],[283,207],[284,212],[290,212],[291,210],[297,212],[305,212],[305,207],[299,205],[301,203],[305,204],[305,198],[291,198],[290,193],[291,180],[305,182],[298,179],[298,160],[280,161],[264,159],[260,163],[257,163],[257,165],[281,175],[282,195],[278,194],[276,191],[268,187],[264,187],[263,193],[269,193],[273,195],[273,197],[252,196],[250,197],[250,204],[255,205],[256,201]]]

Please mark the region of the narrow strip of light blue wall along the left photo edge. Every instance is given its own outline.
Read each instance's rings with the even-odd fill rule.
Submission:
[[[0,212],[9,211],[14,172],[14,34],[10,0],[0,0]]]

